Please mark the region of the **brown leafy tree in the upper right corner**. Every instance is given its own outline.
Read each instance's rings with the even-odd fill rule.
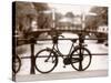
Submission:
[[[85,28],[97,29],[101,24],[108,25],[108,8],[107,7],[93,7],[90,12],[97,13],[95,17],[88,15],[85,18]]]

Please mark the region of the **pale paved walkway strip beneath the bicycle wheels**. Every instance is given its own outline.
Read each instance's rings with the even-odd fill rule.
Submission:
[[[99,77],[108,76],[107,70],[97,71],[84,71],[84,72],[60,72],[60,73],[49,73],[49,74],[36,74],[36,75],[17,75],[17,82],[26,81],[43,81],[43,80],[60,80],[60,79],[80,79],[80,77]]]

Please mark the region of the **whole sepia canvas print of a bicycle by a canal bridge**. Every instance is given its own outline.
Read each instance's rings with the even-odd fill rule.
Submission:
[[[108,76],[109,8],[12,2],[12,80]]]

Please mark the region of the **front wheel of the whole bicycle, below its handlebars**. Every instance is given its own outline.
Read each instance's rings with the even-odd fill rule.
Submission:
[[[40,73],[51,72],[58,64],[58,56],[50,49],[43,49],[36,55],[36,69]]]

